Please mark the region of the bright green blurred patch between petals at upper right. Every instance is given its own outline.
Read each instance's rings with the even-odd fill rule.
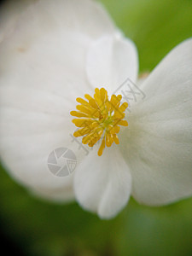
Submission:
[[[140,71],[151,71],[177,44],[192,37],[190,0],[103,0],[117,26],[137,45]]]

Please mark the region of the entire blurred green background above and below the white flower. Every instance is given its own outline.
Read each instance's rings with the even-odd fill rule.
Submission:
[[[22,2],[26,1],[18,4]],[[140,73],[150,72],[174,46],[192,36],[191,0],[101,2],[137,44]],[[103,221],[75,202],[56,205],[32,197],[2,167],[0,202],[5,254],[14,249],[12,255],[32,256],[192,255],[192,199],[145,207],[131,198],[116,218]]]

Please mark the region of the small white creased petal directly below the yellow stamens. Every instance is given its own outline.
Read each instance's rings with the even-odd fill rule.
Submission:
[[[131,175],[115,145],[106,148],[101,157],[95,148],[90,152],[75,172],[74,189],[80,205],[100,218],[113,218],[125,207]]]

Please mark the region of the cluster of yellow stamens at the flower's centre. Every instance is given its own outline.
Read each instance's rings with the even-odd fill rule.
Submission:
[[[102,144],[98,150],[98,155],[107,147],[114,143],[119,144],[117,133],[120,131],[119,125],[128,126],[125,118],[125,109],[128,103],[120,104],[121,95],[111,96],[108,100],[108,91],[104,88],[96,88],[94,97],[88,94],[84,95],[85,99],[77,98],[80,103],[76,108],[79,111],[72,111],[71,115],[77,117],[73,123],[79,127],[78,131],[73,133],[74,137],[83,137],[82,143],[93,147],[102,138]]]

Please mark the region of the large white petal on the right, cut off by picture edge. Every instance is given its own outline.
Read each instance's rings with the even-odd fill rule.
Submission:
[[[142,90],[146,99],[131,108],[120,146],[132,195],[160,206],[192,195],[192,39],[160,62]]]

